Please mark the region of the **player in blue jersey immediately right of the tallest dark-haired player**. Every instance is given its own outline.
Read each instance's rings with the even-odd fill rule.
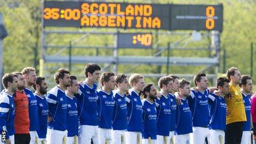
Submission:
[[[99,110],[99,143],[111,143],[112,116],[115,101],[112,90],[115,89],[115,74],[105,72],[100,77],[102,89],[97,90]]]

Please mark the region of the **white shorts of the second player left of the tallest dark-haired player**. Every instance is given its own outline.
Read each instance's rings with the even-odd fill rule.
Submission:
[[[57,144],[57,143],[66,143],[67,139],[67,130],[65,131],[58,131],[47,129],[46,140],[47,144]]]

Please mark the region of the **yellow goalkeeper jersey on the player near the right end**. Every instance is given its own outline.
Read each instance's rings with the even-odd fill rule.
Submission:
[[[230,115],[226,116],[226,124],[238,121],[247,121],[246,110],[244,109],[243,96],[238,86],[230,83],[230,94],[232,99],[225,96],[227,110]]]

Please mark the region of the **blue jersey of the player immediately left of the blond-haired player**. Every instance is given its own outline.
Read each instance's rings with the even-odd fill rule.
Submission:
[[[127,104],[126,95],[122,96],[119,93],[114,94],[114,111],[112,118],[113,130],[126,130],[127,129]]]

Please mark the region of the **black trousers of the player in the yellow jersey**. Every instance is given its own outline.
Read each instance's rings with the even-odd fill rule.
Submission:
[[[225,144],[241,144],[243,135],[243,121],[226,125]]]

